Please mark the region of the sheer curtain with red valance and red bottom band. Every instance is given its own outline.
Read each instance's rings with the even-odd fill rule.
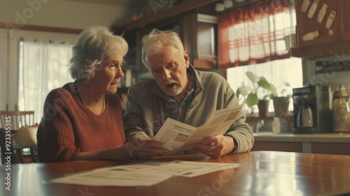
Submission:
[[[291,1],[259,1],[219,15],[218,67],[258,64],[290,57],[295,34]]]

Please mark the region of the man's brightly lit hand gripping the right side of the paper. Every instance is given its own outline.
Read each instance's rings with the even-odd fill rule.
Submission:
[[[193,148],[211,158],[221,158],[233,151],[235,147],[232,137],[216,135],[202,139],[200,143],[193,144]]]

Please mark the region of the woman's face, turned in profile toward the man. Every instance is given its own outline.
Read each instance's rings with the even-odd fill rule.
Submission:
[[[102,94],[115,94],[117,92],[120,78],[124,76],[122,71],[123,56],[115,55],[109,58],[106,62],[97,66],[92,83],[97,91]]]

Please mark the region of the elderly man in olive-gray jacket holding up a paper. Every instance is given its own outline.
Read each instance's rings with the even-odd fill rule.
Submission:
[[[214,111],[239,104],[225,78],[218,73],[195,70],[175,32],[153,29],[142,43],[142,61],[153,78],[130,87],[124,120],[127,141],[134,144],[129,152],[141,159],[167,153],[160,148],[161,142],[153,140],[167,118],[199,127]],[[245,120],[240,111],[228,132],[206,137],[193,144],[193,148],[211,158],[249,151],[254,139]]]

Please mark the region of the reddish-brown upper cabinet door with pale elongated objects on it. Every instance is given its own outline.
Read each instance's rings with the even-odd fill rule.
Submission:
[[[298,48],[338,40],[337,15],[339,13],[334,0],[295,0],[295,12]]]

